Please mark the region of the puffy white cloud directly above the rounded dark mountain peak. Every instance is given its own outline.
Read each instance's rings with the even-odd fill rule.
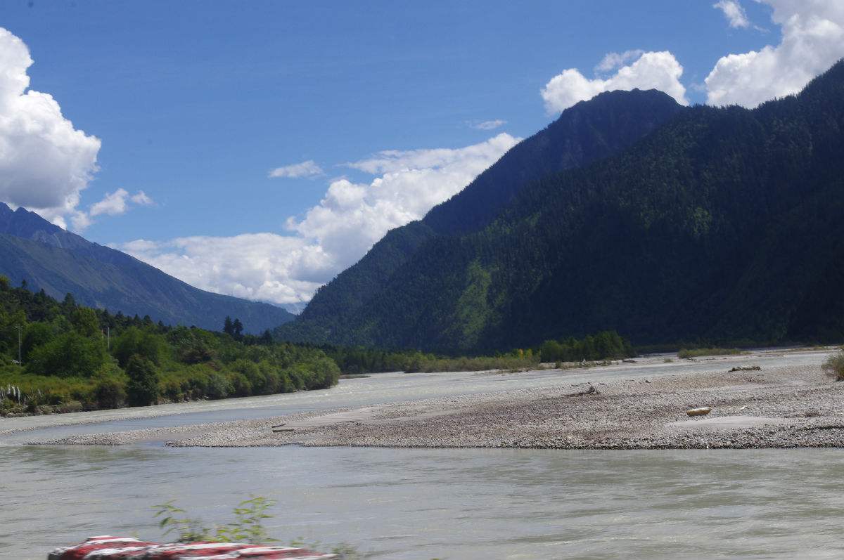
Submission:
[[[625,64],[608,78],[587,78],[576,68],[569,68],[551,78],[541,90],[545,109],[549,114],[559,113],[575,105],[578,101],[591,100],[597,94],[614,89],[659,89],[674,97],[678,103],[689,105],[685,97],[685,87],[680,83],[683,67],[668,51],[642,52],[628,51],[638,57],[630,64]],[[623,53],[610,53],[598,65],[598,68],[612,68],[624,64]],[[619,62],[621,61],[621,62]]]

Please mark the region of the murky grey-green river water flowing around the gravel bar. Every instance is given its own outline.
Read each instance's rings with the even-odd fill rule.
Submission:
[[[670,371],[653,365],[583,375],[598,380]],[[565,381],[578,379],[568,374]],[[555,381],[546,373],[520,380],[397,374],[344,381],[322,397],[187,407],[192,412],[18,434],[0,446],[0,557],[43,559],[52,547],[97,534],[160,538],[150,506],[173,498],[208,525],[225,522],[231,507],[250,493],[278,500],[267,525],[279,539],[344,541],[377,558],[844,557],[841,450],[21,445],[34,433],[270,416],[306,408],[307,399],[312,407],[388,401],[398,385],[397,398],[421,398],[554,382],[559,375]]]

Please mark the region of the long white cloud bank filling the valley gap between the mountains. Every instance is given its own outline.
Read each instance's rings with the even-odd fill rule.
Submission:
[[[349,163],[373,178],[332,180],[316,206],[287,220],[289,234],[136,240],[117,248],[198,288],[300,304],[389,229],[425,216],[518,141],[501,133],[465,148],[389,150]]]

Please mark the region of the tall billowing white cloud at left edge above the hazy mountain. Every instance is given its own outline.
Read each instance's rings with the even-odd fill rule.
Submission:
[[[97,170],[100,140],[73,127],[50,94],[28,89],[24,41],[0,28],[0,201],[64,227]]]

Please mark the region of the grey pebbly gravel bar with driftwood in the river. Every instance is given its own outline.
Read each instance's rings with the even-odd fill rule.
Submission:
[[[288,444],[387,447],[520,447],[553,449],[683,449],[844,446],[844,383],[813,363],[760,370],[712,370],[566,383],[385,405],[130,432],[90,433],[42,444],[129,444],[167,439],[172,446],[250,447]],[[655,360],[652,360],[655,363]],[[698,362],[700,363],[700,361]],[[722,369],[718,369],[718,368]],[[634,371],[631,369],[630,371]],[[511,375],[523,374],[495,374]],[[513,379],[513,378],[510,378]],[[582,379],[582,376],[577,379]],[[694,407],[709,415],[688,417]],[[285,431],[273,432],[284,424]]]

